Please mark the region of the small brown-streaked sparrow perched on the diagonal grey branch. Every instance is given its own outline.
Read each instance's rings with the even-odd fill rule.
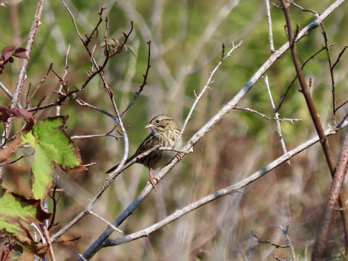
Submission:
[[[145,128],[151,128],[151,133],[140,144],[134,155],[126,160],[125,164],[156,145],[160,144],[162,147],[172,147],[175,141],[179,138],[181,132],[181,129],[176,121],[171,116],[166,114],[158,114],[153,116]],[[181,144],[182,137],[180,137],[180,140],[177,142],[175,149],[180,149]],[[156,169],[158,167],[163,167],[171,162],[174,157],[182,159],[181,156],[175,151],[157,150],[137,161],[137,163],[141,163],[149,169],[150,182],[154,189],[156,189],[155,180],[158,182],[159,179],[152,176],[151,168]],[[113,172],[118,165],[119,164],[110,168],[106,174]]]

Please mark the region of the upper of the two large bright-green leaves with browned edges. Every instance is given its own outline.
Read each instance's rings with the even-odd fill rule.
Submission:
[[[22,140],[35,149],[31,181],[36,199],[46,198],[53,187],[53,164],[66,172],[86,169],[78,148],[63,130],[67,119],[68,116],[47,118],[23,134]]]

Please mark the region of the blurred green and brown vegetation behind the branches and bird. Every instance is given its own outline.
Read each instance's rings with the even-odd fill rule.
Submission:
[[[334,1],[296,1],[303,8],[322,13]],[[146,71],[148,45],[151,40],[151,69],[148,84],[135,104],[123,117],[129,125],[130,154],[148,135],[144,129],[155,114],[167,113],[182,126],[194,102],[193,91],[199,93],[211,71],[221,59],[222,43],[228,51],[232,42],[243,41],[215,74],[215,81],[202,97],[184,133],[184,142],[199,130],[224,104],[246,84],[250,77],[270,56],[268,24],[264,1],[211,1],[211,0],[109,0],[70,1],[65,3],[76,18],[81,34],[90,34],[99,20],[101,7],[107,7],[103,18],[109,17],[108,38],[123,41],[121,31],[134,30],[127,44],[137,50],[135,58],[130,52],[114,56],[104,70],[120,111],[123,111],[139,90]],[[276,2],[277,3],[277,2]],[[25,47],[31,27],[35,1],[6,1],[0,8],[0,48],[7,45]],[[348,43],[347,3],[334,11],[324,21],[331,57],[335,61]],[[293,23],[301,28],[315,19],[312,13],[291,8]],[[283,11],[271,7],[275,48],[286,42]],[[68,57],[66,79],[69,85],[80,87],[90,70],[90,58],[74,29],[71,17],[60,1],[46,0],[41,16],[41,25],[35,38],[29,61],[27,79],[21,103],[29,85],[36,87],[47,73],[50,63],[63,75],[65,55]],[[100,26],[98,45],[102,43],[105,25]],[[94,38],[95,39],[95,38]],[[92,44],[93,41],[92,40]],[[296,45],[300,61],[304,62],[324,45],[321,29],[317,28]],[[104,60],[104,51],[97,47],[94,57]],[[335,68],[337,104],[347,100],[347,54]],[[17,83],[20,60],[7,66],[0,81],[13,93]],[[306,79],[313,79],[312,95],[324,128],[332,124],[332,93],[327,53],[322,52],[304,68]],[[286,52],[265,74],[276,106],[287,86],[295,76],[290,52]],[[59,82],[49,73],[39,88],[29,108],[38,104],[44,95],[43,104],[53,102]],[[301,118],[302,121],[282,122],[282,132],[288,150],[316,135],[309,117],[303,95],[298,92],[297,82],[290,89],[280,109],[280,117]],[[95,77],[86,87],[86,92],[77,94],[82,100],[114,114],[108,94],[100,78]],[[8,106],[10,98],[4,93],[0,104]],[[273,117],[266,85],[263,80],[256,83],[242,100],[240,107],[248,107]],[[343,106],[338,119],[347,111]],[[55,115],[55,108],[39,111],[38,119]],[[115,125],[112,119],[77,103],[66,101],[61,115],[69,115],[67,133],[73,135],[95,135],[108,132]],[[23,122],[14,120],[13,133]],[[2,130],[1,130],[2,131]],[[330,137],[333,152],[338,154],[343,132]],[[123,141],[112,137],[75,140],[84,164],[92,162],[83,173],[61,174],[59,187],[65,188],[58,204],[57,227],[54,234],[70,222],[88,204],[106,179],[104,174],[111,166],[119,163],[123,156]],[[13,159],[27,153],[19,150]],[[274,121],[245,111],[233,110],[196,145],[193,153],[184,157],[158,184],[143,203],[121,226],[124,234],[147,228],[201,197],[232,185],[251,175],[270,161],[282,155]],[[27,157],[4,168],[2,178],[14,191],[29,191],[31,158]],[[147,169],[135,164],[119,175],[93,208],[97,214],[112,222],[139,194],[148,181]],[[310,257],[322,210],[330,189],[331,176],[320,144],[301,152],[287,163],[248,185],[243,193],[227,196],[207,204],[168,226],[142,238],[117,247],[101,250],[93,260],[247,260],[250,230],[262,239],[276,244],[287,244],[278,228],[283,227],[292,215],[289,235],[300,260]],[[55,244],[58,260],[74,260],[77,256],[69,250],[74,248],[83,253],[105,230],[106,225],[93,216],[86,216],[61,239],[81,236],[69,243]],[[114,233],[112,237],[117,237]],[[252,260],[290,258],[290,250],[276,249],[268,244],[258,244],[256,239]],[[332,253],[343,251],[343,228],[339,214],[330,234]],[[25,253],[21,260],[32,260]],[[307,259],[309,260],[309,259]]]

